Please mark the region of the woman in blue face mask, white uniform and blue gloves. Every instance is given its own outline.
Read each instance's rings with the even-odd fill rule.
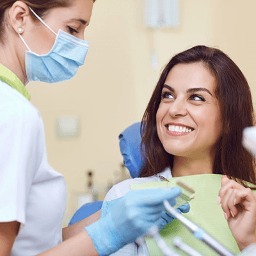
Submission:
[[[110,214],[61,228],[65,180],[47,162],[42,117],[25,84],[76,74],[88,51],[84,29],[93,3],[0,2],[0,256],[109,255],[172,221],[163,200],[174,205],[178,188],[131,191],[103,205]]]

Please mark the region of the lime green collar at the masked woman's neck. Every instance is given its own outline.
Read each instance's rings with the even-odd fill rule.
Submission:
[[[22,81],[17,77],[10,69],[0,64],[0,80],[6,84],[9,84],[13,89],[20,92],[24,97],[30,100],[30,95],[26,90]]]

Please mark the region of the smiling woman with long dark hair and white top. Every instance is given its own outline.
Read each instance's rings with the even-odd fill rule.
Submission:
[[[131,184],[161,181],[159,175],[170,179],[216,173],[236,180],[232,184],[239,188],[246,187],[244,180],[256,184],[255,161],[242,146],[243,129],[255,125],[254,118],[250,87],[226,54],[205,46],[180,52],[164,68],[143,115],[145,164],[140,178],[115,185],[105,200],[125,195]],[[230,200],[221,201],[226,212]],[[230,214],[229,222],[234,218]],[[236,222],[237,228],[228,224],[243,249],[247,241],[237,233],[243,223]],[[148,253],[147,248],[139,250]],[[115,253],[137,254],[135,243]]]

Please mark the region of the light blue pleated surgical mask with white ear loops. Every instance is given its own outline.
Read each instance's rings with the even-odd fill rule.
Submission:
[[[56,40],[51,51],[45,55],[39,55],[29,49],[19,34],[22,42],[28,48],[26,51],[28,81],[57,83],[74,77],[79,66],[84,64],[89,42],[72,36],[61,29],[56,34],[31,8],[30,10],[56,35]]]

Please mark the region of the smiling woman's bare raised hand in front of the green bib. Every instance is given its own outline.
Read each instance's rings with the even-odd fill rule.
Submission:
[[[227,176],[221,178],[218,204],[240,250],[256,242],[256,195]]]

